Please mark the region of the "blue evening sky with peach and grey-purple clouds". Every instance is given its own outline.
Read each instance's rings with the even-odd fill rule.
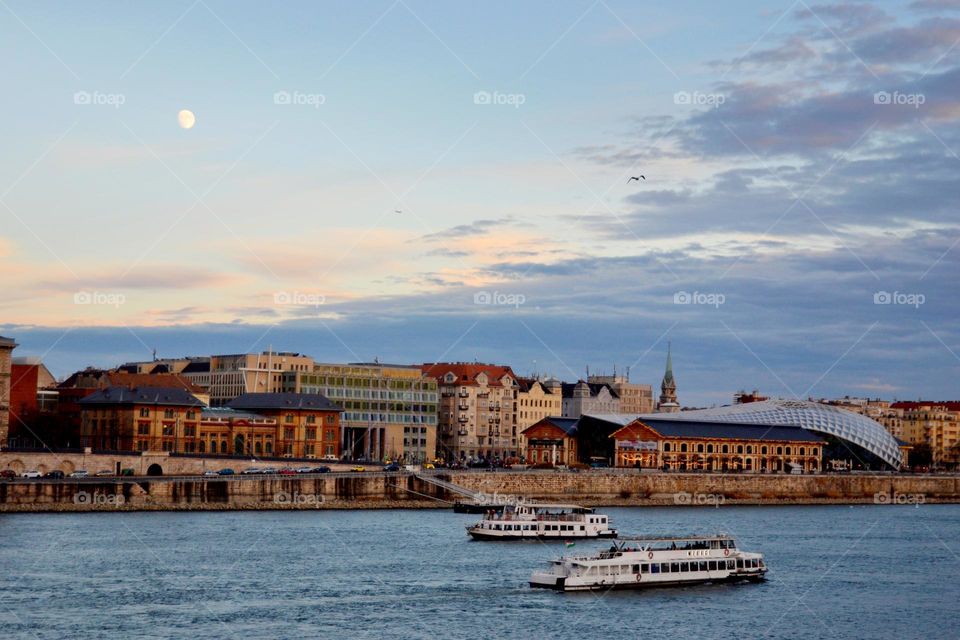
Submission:
[[[55,375],[670,343],[686,406],[960,398],[960,0],[3,0],[0,65],[0,334]]]

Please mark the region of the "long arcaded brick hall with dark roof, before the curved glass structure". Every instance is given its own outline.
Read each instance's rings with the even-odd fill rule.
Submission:
[[[676,471],[822,469],[823,438],[801,427],[638,418],[614,431],[618,467]]]

